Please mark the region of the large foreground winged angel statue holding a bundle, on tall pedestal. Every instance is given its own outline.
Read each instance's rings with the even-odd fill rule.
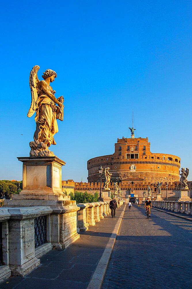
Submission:
[[[54,135],[58,132],[57,119],[63,121],[63,96],[56,99],[55,90],[50,82],[55,80],[57,74],[51,69],[43,72],[43,80],[38,79],[39,66],[35,65],[30,73],[29,85],[31,88],[31,107],[27,116],[31,117],[35,112],[36,131],[34,142],[30,142],[30,156],[54,156],[48,148],[56,144]],[[57,105],[58,106],[57,106]]]

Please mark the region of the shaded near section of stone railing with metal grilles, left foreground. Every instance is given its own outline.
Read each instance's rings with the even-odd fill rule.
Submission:
[[[50,207],[1,208],[0,280],[24,276],[40,264],[53,247]]]

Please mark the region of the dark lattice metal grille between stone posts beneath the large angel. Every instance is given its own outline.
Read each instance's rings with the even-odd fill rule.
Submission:
[[[35,218],[35,247],[47,242],[47,216]]]

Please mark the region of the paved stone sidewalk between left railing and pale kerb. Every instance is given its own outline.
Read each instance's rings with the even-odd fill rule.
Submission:
[[[67,249],[41,257],[41,265],[30,274],[2,282],[0,289],[86,289],[124,207],[116,210],[115,218],[108,215],[79,232],[80,238]]]

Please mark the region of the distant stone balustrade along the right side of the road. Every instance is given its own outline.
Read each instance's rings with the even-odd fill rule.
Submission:
[[[152,201],[152,206],[160,209],[192,215],[192,201]]]

